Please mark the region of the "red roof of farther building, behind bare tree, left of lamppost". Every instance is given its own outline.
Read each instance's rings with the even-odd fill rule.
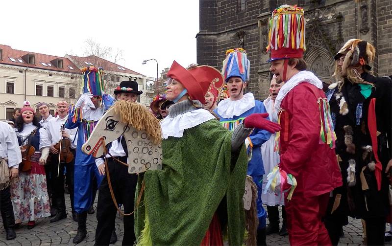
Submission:
[[[103,69],[105,69],[107,71],[131,73],[134,75],[144,76],[141,73],[135,72],[129,68],[112,63],[112,62],[105,60],[105,59],[102,59],[98,56],[94,56],[94,55],[86,56],[86,57],[72,56],[72,55],[66,55],[66,56],[69,56],[71,58],[71,60],[73,61],[73,63],[75,63],[79,68],[91,66],[91,65],[86,64],[86,62],[87,62],[87,63],[91,63],[97,67],[103,67]],[[120,67],[123,69],[121,69]]]

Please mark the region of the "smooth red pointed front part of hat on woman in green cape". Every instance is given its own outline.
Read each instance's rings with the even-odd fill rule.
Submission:
[[[167,76],[180,82],[188,90],[188,95],[192,100],[205,104],[203,89],[189,70],[173,61]]]

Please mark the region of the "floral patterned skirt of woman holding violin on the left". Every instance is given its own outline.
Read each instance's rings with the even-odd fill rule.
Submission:
[[[32,162],[29,172],[19,172],[19,178],[11,179],[11,201],[15,223],[34,221],[50,216],[50,203],[45,169]]]

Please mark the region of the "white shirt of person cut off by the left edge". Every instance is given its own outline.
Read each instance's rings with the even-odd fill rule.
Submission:
[[[22,153],[14,129],[0,121],[0,158],[8,157],[8,167],[19,167]]]

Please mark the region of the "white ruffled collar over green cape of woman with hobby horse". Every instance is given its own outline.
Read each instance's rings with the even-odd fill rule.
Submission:
[[[204,109],[189,111],[175,117],[169,115],[160,121],[162,138],[182,137],[184,130],[196,127],[211,119],[215,119],[214,115]]]

